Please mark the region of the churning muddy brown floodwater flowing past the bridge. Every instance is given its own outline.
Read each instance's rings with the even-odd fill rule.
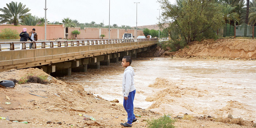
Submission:
[[[151,60],[150,60],[151,59]],[[137,58],[135,107],[173,116],[243,117],[256,121],[256,61]],[[60,78],[87,92],[123,103],[124,67],[110,63]]]

